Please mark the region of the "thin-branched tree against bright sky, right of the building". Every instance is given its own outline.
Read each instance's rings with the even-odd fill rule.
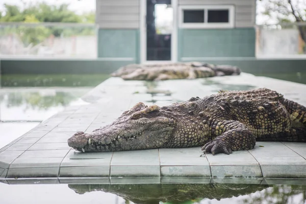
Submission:
[[[306,22],[305,0],[259,0],[262,2],[263,16],[282,22]],[[306,41],[306,26],[298,26],[302,40]]]

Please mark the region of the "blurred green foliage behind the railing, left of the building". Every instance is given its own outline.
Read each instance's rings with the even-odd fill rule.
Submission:
[[[94,23],[95,12],[78,15],[69,10],[69,5],[59,6],[48,5],[46,3],[34,4],[20,7],[5,4],[6,13],[0,13],[0,22],[75,22],[75,23]],[[59,27],[9,27],[0,30],[0,35],[16,34],[20,37],[25,46],[37,45],[50,35],[72,36],[72,35],[94,35],[94,30],[90,28],[59,28]]]

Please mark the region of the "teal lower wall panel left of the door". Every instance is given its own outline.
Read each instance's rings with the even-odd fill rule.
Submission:
[[[134,58],[139,62],[138,29],[98,29],[98,58]]]

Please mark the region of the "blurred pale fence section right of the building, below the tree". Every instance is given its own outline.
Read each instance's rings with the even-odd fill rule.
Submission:
[[[256,56],[306,57],[306,22],[256,26]]]

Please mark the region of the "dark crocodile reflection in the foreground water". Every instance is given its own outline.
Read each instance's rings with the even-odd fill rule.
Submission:
[[[78,194],[92,191],[112,193],[134,203],[185,203],[205,198],[217,199],[248,195],[241,203],[306,203],[306,185],[258,184],[69,184]],[[255,193],[260,191],[258,193]],[[296,196],[298,195],[298,196]],[[238,201],[238,200],[233,200]],[[190,203],[190,202],[188,202]],[[293,202],[292,202],[293,203]]]

